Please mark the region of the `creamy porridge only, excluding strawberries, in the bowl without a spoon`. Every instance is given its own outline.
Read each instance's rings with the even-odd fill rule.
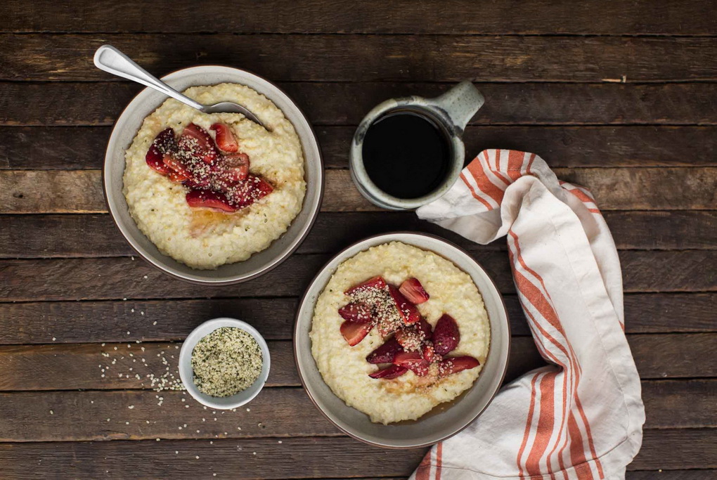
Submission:
[[[361,309],[353,309],[347,313],[347,304],[355,303],[352,302],[352,297],[344,292],[352,287],[355,290],[356,285],[366,282],[367,279],[374,282],[374,277],[377,276],[385,279],[388,284],[401,285],[401,292],[404,292],[404,285],[409,279],[427,292],[427,300],[412,298],[412,302],[420,302],[412,305],[412,308],[417,309],[419,317],[427,321],[428,332],[433,329],[432,335],[435,336],[433,346],[429,347],[431,350],[435,347],[438,352],[442,347],[437,337],[440,328],[437,324],[443,323],[443,317],[446,316],[452,317],[451,321],[455,319],[452,325],[457,326],[460,331],[460,342],[452,345],[453,350],[450,352],[445,353],[444,350],[442,353],[445,355],[442,357],[437,355],[439,360],[443,359],[443,363],[432,363],[431,368],[425,372],[411,367],[406,370],[397,365],[386,367],[386,364],[369,363],[367,356],[375,357],[375,352],[381,352],[377,350],[379,347],[385,350],[385,345],[395,343],[399,335],[397,332],[393,337],[382,336],[379,332],[380,322],[372,328],[370,324],[359,324],[369,325],[371,328],[367,335],[363,333],[366,336],[361,337],[361,340],[347,337],[343,331],[345,325],[351,328],[351,332],[356,330],[356,323],[346,320],[349,318],[348,314],[361,322],[361,316],[369,313],[361,312]],[[409,298],[409,294],[402,298]],[[404,320],[409,321],[408,318],[409,315],[405,316]],[[415,319],[410,321],[414,322]],[[318,370],[333,393],[344,400],[346,405],[369,415],[371,421],[386,424],[417,419],[436,405],[450,401],[470,388],[478,378],[488,355],[490,327],[483,299],[468,274],[458,269],[451,261],[430,251],[401,242],[391,242],[362,251],[339,265],[317,299],[310,337],[311,351]],[[351,346],[350,343],[355,345]],[[425,347],[419,347],[418,351],[424,351],[422,348]],[[463,367],[465,370],[448,372],[450,375],[437,374],[439,370],[436,365],[443,368],[445,362],[452,358],[475,359],[477,362],[473,360],[475,364]],[[394,378],[394,370],[388,369],[402,371]],[[414,370],[419,372],[419,375],[414,373]],[[380,372],[384,371],[384,378],[369,376],[380,376]]]

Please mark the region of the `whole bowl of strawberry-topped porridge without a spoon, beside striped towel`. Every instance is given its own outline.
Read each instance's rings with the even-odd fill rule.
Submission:
[[[341,251],[300,302],[294,353],[313,403],[376,446],[415,448],[465,428],[498,392],[510,349],[500,292],[436,236],[382,234]]]

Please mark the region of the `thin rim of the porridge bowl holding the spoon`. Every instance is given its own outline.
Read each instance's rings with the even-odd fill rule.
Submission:
[[[310,133],[313,137],[313,140],[314,140],[314,143],[315,143],[316,149],[317,149],[317,154],[318,154],[316,160],[318,160],[319,167],[320,167],[319,168],[319,178],[318,178],[318,183],[319,183],[318,184],[318,198],[315,201],[315,206],[313,208],[313,212],[311,213],[310,219],[305,224],[302,234],[298,237],[298,239],[296,239],[293,242],[293,244],[290,246],[290,248],[285,249],[285,251],[283,251],[280,256],[275,257],[274,259],[272,259],[271,262],[266,264],[265,267],[258,270],[257,272],[254,272],[253,274],[249,274],[246,276],[238,276],[236,278],[230,278],[230,279],[216,279],[215,280],[215,279],[188,278],[188,277],[184,277],[184,275],[178,274],[176,272],[172,272],[172,271],[164,268],[162,265],[157,264],[156,261],[154,261],[151,258],[151,255],[146,254],[143,251],[143,249],[141,249],[137,246],[136,241],[133,238],[131,238],[131,236],[130,236],[130,234],[128,234],[128,232],[125,232],[123,227],[120,226],[118,220],[115,219],[115,212],[113,211],[113,206],[110,205],[110,201],[108,199],[108,191],[107,191],[108,183],[107,183],[107,178],[106,178],[107,173],[106,173],[105,165],[108,162],[108,157],[110,156],[110,140],[115,135],[115,129],[117,128],[118,123],[123,118],[125,113],[128,111],[128,108],[130,107],[130,105],[132,105],[133,102],[135,100],[137,100],[137,97],[142,95],[143,92],[146,92],[147,90],[151,90],[149,87],[143,88],[142,90],[137,92],[137,94],[132,97],[132,99],[127,103],[127,105],[125,105],[122,112],[120,112],[120,115],[118,115],[117,120],[115,120],[115,122],[113,123],[112,131],[110,132],[110,137],[108,138],[108,146],[105,150],[105,158],[103,160],[101,181],[102,181],[102,189],[103,189],[103,197],[105,200],[105,206],[107,207],[107,210],[110,213],[110,217],[112,218],[113,223],[115,224],[117,229],[120,231],[120,233],[122,234],[124,239],[130,245],[130,248],[133,249],[133,251],[135,251],[135,253],[138,256],[140,256],[142,259],[144,259],[152,267],[160,270],[161,272],[163,272],[165,274],[168,274],[170,277],[174,277],[176,279],[181,279],[181,280],[184,280],[184,282],[189,282],[192,284],[222,286],[222,285],[231,285],[231,284],[247,282],[251,279],[260,277],[261,275],[263,275],[267,272],[270,272],[272,269],[275,269],[276,267],[278,267],[280,264],[282,264],[283,261],[288,259],[291,256],[291,254],[293,254],[293,252],[296,251],[296,249],[298,249],[298,247],[303,243],[303,241],[306,239],[306,237],[310,233],[311,229],[313,228],[313,225],[315,224],[315,221],[316,221],[316,217],[318,216],[318,213],[320,211],[321,203],[323,203],[323,194],[324,194],[324,186],[326,185],[326,176],[324,175],[324,163],[323,163],[323,153],[321,152],[321,145],[320,145],[320,143],[318,143],[318,137],[316,136],[316,132],[313,128],[313,125],[311,125],[311,123],[309,122],[308,117],[305,114],[305,112],[298,105],[296,105],[296,102],[294,102],[293,98],[290,97],[290,95],[288,95],[288,93],[286,93],[280,87],[278,87],[278,85],[276,85],[274,82],[271,82],[270,80],[267,80],[264,77],[262,77],[261,75],[255,74],[254,72],[250,72],[247,69],[239,69],[236,67],[229,67],[228,65],[220,65],[220,64],[202,64],[202,65],[194,65],[193,67],[186,67],[186,68],[172,70],[171,72],[168,72],[166,75],[161,77],[161,80],[162,81],[171,80],[171,77],[173,75],[178,74],[179,72],[185,72],[185,71],[191,71],[191,70],[201,70],[201,69],[213,68],[213,67],[237,70],[237,72],[243,72],[245,74],[256,77],[258,80],[261,80],[262,82],[266,82],[267,84],[274,87],[276,90],[281,92],[282,95],[285,95],[285,97],[288,98],[288,100],[292,103],[292,105],[300,113],[300,115],[303,117],[303,120],[305,121],[305,123],[308,127],[308,130],[310,130]],[[271,100],[271,99],[269,99],[269,100]],[[161,105],[161,103],[159,105]],[[157,107],[159,107],[159,105],[157,105]],[[302,148],[303,148],[303,145],[302,145]],[[306,162],[306,158],[304,158],[304,161]],[[304,198],[304,201],[306,201],[306,198]],[[303,209],[303,206],[302,206],[302,209]],[[285,233],[286,232],[284,232],[284,234]],[[272,242],[272,244],[273,244],[273,242]],[[271,246],[271,244],[270,244],[270,246]],[[267,248],[270,248],[270,246]],[[259,253],[259,252],[257,252],[257,253]],[[196,270],[196,272],[203,272],[203,270]]]

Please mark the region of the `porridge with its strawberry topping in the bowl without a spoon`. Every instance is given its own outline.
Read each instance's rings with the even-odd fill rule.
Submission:
[[[415,420],[470,388],[490,327],[468,274],[394,241],[338,266],[316,301],[310,338],[333,393],[387,424]]]

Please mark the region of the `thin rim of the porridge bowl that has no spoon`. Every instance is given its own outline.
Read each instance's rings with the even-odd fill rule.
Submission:
[[[312,395],[312,393],[311,393],[311,391],[310,391],[310,389],[309,389],[309,387],[308,387],[308,384],[307,384],[307,382],[306,382],[306,380],[305,380],[305,378],[304,378],[304,373],[303,373],[302,366],[301,366],[301,364],[300,364],[299,357],[298,357],[298,353],[297,353],[297,342],[298,342],[298,337],[299,337],[299,317],[300,317],[300,313],[301,313],[303,304],[304,304],[304,303],[306,302],[306,300],[307,300],[307,296],[308,296],[308,294],[309,294],[309,292],[310,292],[310,290],[311,290],[311,287],[313,287],[313,284],[315,284],[315,282],[317,282],[318,277],[320,277],[320,275],[321,275],[328,267],[330,267],[331,264],[333,264],[333,262],[336,261],[336,259],[338,259],[340,256],[342,256],[346,251],[348,251],[348,250],[350,250],[350,249],[353,249],[354,247],[359,246],[360,244],[369,243],[369,242],[374,241],[374,240],[376,240],[376,239],[379,239],[379,238],[381,238],[381,237],[385,237],[385,238],[384,238],[384,241],[382,241],[381,244],[389,243],[389,242],[391,242],[391,241],[396,241],[396,240],[395,240],[395,236],[397,236],[397,235],[414,235],[414,236],[429,237],[430,239],[434,239],[434,240],[437,240],[437,241],[442,242],[442,243],[445,244],[447,247],[449,247],[449,248],[451,248],[451,249],[455,249],[456,251],[460,252],[460,254],[464,254],[465,256],[467,256],[468,258],[470,258],[470,259],[473,261],[473,263],[475,264],[475,267],[477,267],[478,269],[480,269],[481,271],[483,271],[483,273],[485,274],[485,277],[488,279],[488,282],[490,282],[490,284],[491,284],[491,285],[493,286],[493,288],[495,289],[495,292],[498,292],[498,298],[500,298],[500,302],[499,302],[499,304],[497,305],[497,307],[503,312],[503,315],[504,315],[504,317],[505,317],[505,325],[504,325],[504,326],[505,326],[506,335],[507,335],[507,337],[508,337],[508,342],[507,342],[507,345],[505,346],[505,354],[502,355],[502,356],[505,358],[505,364],[503,365],[503,368],[501,368],[501,370],[500,370],[500,373],[499,373],[500,379],[499,379],[498,383],[496,383],[497,386],[496,386],[495,390],[490,394],[490,398],[489,398],[488,401],[485,403],[485,405],[483,405],[483,408],[481,408],[480,411],[477,411],[477,412],[475,413],[475,415],[473,415],[473,417],[467,418],[466,421],[465,421],[465,424],[462,425],[460,428],[456,428],[455,431],[451,431],[450,433],[446,433],[445,435],[442,435],[442,436],[440,436],[440,437],[437,437],[437,438],[435,438],[435,440],[432,440],[432,441],[429,441],[429,442],[414,443],[414,444],[405,445],[405,446],[397,446],[397,445],[391,445],[391,444],[387,444],[387,443],[379,443],[379,442],[376,442],[376,441],[369,441],[369,440],[367,440],[366,438],[363,438],[363,437],[361,437],[360,435],[358,435],[358,434],[356,434],[356,433],[353,433],[353,432],[351,432],[351,431],[348,431],[346,428],[343,428],[343,426],[341,426],[341,425],[339,425],[338,423],[336,423],[336,421],[334,421],[333,418],[331,418],[331,416],[329,416],[328,413],[326,413],[326,411],[324,411],[323,408],[320,407],[320,405],[319,405],[319,403],[317,402],[317,400],[313,397],[313,395]],[[380,245],[380,244],[376,244],[376,245]],[[374,245],[371,245],[371,246],[374,246]],[[366,249],[371,248],[371,246],[367,246]],[[421,248],[421,247],[417,247],[417,248]],[[363,250],[361,250],[361,251],[366,251],[366,249],[363,249]],[[358,252],[357,252],[357,253],[358,253]],[[433,253],[437,254],[438,256],[442,256],[441,254],[437,253],[436,251],[433,251]],[[442,257],[443,257],[443,256],[442,256]],[[443,257],[443,258],[445,258],[445,257]],[[449,260],[449,261],[450,261],[450,260]],[[337,267],[338,267],[338,265],[337,265]],[[460,267],[459,267],[459,269],[460,269]],[[462,271],[462,269],[461,269],[461,271]],[[326,285],[324,285],[324,287],[326,287]],[[322,290],[323,290],[323,289],[322,289]],[[481,292],[481,296],[483,296],[483,292]],[[312,315],[313,315],[313,309],[312,309]],[[491,346],[490,346],[490,349],[488,350],[488,357],[490,357],[491,353],[493,352],[493,340],[494,340],[494,337],[493,337],[493,329],[491,328],[491,331],[490,331],[490,345],[491,345]],[[350,244],[350,245],[346,246],[346,248],[341,249],[341,251],[339,251],[336,255],[332,256],[331,259],[329,259],[329,260],[326,262],[326,264],[324,264],[323,267],[321,267],[321,268],[318,270],[318,272],[315,274],[315,276],[313,277],[313,279],[311,279],[311,282],[309,282],[308,287],[306,287],[306,290],[305,290],[304,294],[302,295],[302,297],[301,297],[301,299],[300,299],[300,302],[299,302],[299,304],[298,304],[298,307],[297,307],[297,309],[296,309],[296,315],[295,315],[295,317],[294,317],[294,330],[293,330],[293,350],[294,350],[294,363],[295,363],[295,365],[296,365],[296,370],[298,371],[298,374],[299,374],[299,380],[301,381],[301,385],[303,386],[304,391],[306,392],[306,394],[307,394],[308,397],[310,398],[311,403],[314,404],[314,406],[318,409],[318,411],[320,411],[321,414],[322,414],[328,421],[330,421],[331,423],[333,423],[333,426],[336,426],[336,428],[338,428],[338,429],[339,429],[340,431],[342,431],[343,433],[346,433],[348,436],[351,436],[351,437],[355,438],[356,440],[362,441],[362,442],[364,442],[364,443],[368,443],[368,444],[371,445],[371,446],[379,446],[379,447],[381,447],[381,448],[391,448],[391,449],[395,449],[395,450],[405,450],[405,449],[407,449],[407,448],[422,448],[422,447],[426,447],[426,446],[431,446],[431,445],[433,445],[433,444],[435,444],[435,443],[438,443],[438,442],[440,442],[440,441],[444,441],[444,440],[446,440],[447,438],[450,438],[450,437],[452,437],[452,436],[455,436],[457,433],[460,433],[460,431],[464,430],[465,428],[467,428],[467,426],[469,426],[471,423],[473,423],[473,421],[475,421],[475,419],[478,418],[478,417],[485,411],[486,408],[488,408],[488,405],[490,405],[490,403],[493,402],[493,398],[495,398],[495,395],[498,394],[498,391],[499,391],[500,388],[503,386],[503,381],[505,380],[505,375],[506,375],[506,373],[508,372],[508,359],[510,358],[510,355],[511,355],[511,324],[510,324],[510,320],[509,320],[509,317],[508,317],[508,308],[505,307],[505,300],[503,299],[503,295],[500,294],[500,290],[498,289],[498,286],[495,284],[495,281],[493,280],[492,277],[490,277],[490,275],[488,274],[488,272],[485,272],[485,269],[483,269],[483,267],[481,267],[481,265],[478,263],[478,261],[475,261],[475,259],[473,259],[473,256],[470,256],[470,254],[469,254],[467,251],[465,251],[465,249],[462,249],[460,246],[457,246],[456,244],[452,243],[451,241],[447,241],[446,239],[442,239],[440,236],[437,236],[437,235],[426,234],[426,233],[424,233],[424,232],[419,232],[419,231],[392,231],[392,232],[389,232],[389,233],[386,233],[386,234],[376,234],[376,235],[372,235],[372,236],[366,237],[365,239],[362,239],[362,240],[353,242],[353,244]],[[309,353],[310,353],[310,352],[309,352]],[[493,354],[493,355],[495,355],[495,354]],[[313,355],[312,355],[312,360],[313,360]],[[488,362],[488,360],[486,359],[486,363],[487,363],[487,362]],[[483,375],[483,373],[481,373],[481,375]],[[463,394],[465,394],[465,393],[466,393],[467,391],[469,391],[469,390],[472,390],[472,389],[475,387],[476,383],[478,383],[478,380],[476,380],[476,381],[473,383],[473,385],[472,385],[469,389],[465,390],[465,392],[464,392]],[[333,392],[332,392],[332,394],[333,394]],[[461,398],[463,394],[459,395],[458,398]],[[351,407],[348,407],[348,408],[351,408]],[[420,420],[421,420],[421,419],[419,418],[417,421],[420,421]]]

